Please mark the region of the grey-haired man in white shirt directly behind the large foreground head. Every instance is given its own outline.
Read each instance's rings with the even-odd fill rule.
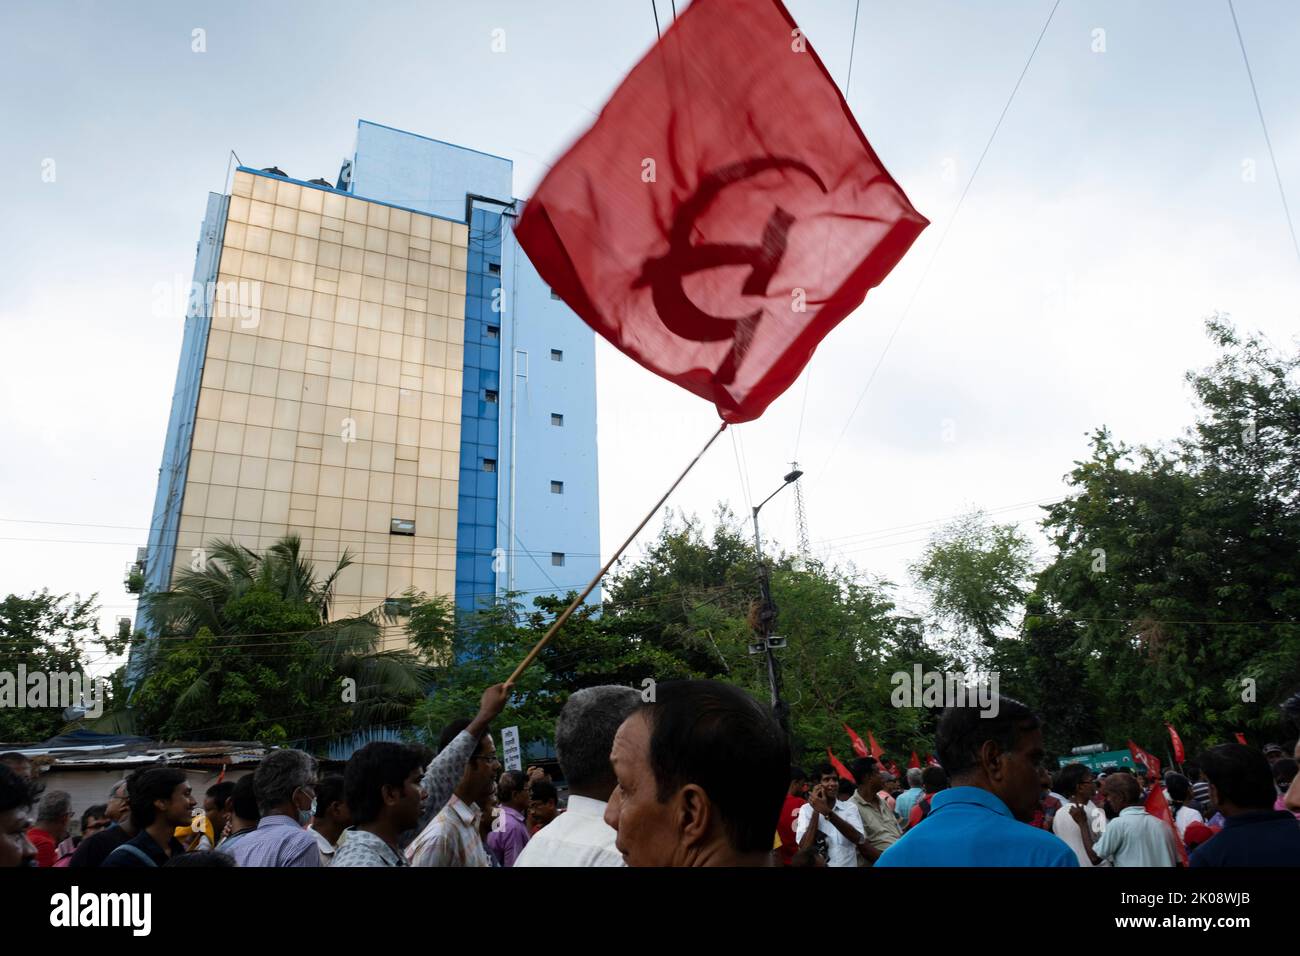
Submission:
[[[641,705],[630,687],[606,684],[569,695],[555,722],[555,756],[569,788],[568,809],[533,834],[515,866],[623,866],[618,832],[604,822],[618,780],[610,749]]]

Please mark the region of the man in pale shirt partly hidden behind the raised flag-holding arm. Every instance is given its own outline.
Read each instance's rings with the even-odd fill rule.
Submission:
[[[452,721],[442,731],[438,750],[446,749],[471,721]],[[476,726],[477,730],[477,726]],[[491,728],[482,727],[478,744],[465,763],[460,782],[438,816],[407,847],[406,857],[412,866],[490,866],[488,848],[478,831],[478,818],[497,787],[500,761]]]

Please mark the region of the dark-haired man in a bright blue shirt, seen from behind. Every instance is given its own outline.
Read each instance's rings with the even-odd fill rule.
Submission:
[[[949,708],[939,721],[939,762],[953,786],[876,866],[1078,866],[1058,836],[1028,825],[1039,806],[1043,730],[1034,713],[998,697],[992,717]]]

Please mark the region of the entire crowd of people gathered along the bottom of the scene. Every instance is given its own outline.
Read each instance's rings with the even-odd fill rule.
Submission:
[[[1219,744],[1176,773],[1044,769],[1039,718],[952,708],[937,766],[872,757],[811,777],[771,711],[716,682],[575,692],[555,727],[567,797],[504,770],[510,687],[429,748],[376,741],[342,774],[296,749],[203,793],[138,770],[86,808],[0,754],[0,866],[1300,866],[1300,780],[1279,747]],[[1295,757],[1300,757],[1300,744]],[[850,779],[852,778],[852,779]]]

